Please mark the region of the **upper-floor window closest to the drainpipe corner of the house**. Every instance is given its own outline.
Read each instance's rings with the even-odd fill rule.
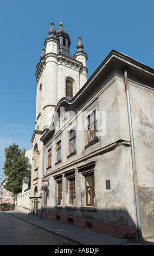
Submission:
[[[91,115],[88,115],[87,136],[88,136],[88,143],[93,141],[97,137],[96,127],[95,127],[95,111]]]

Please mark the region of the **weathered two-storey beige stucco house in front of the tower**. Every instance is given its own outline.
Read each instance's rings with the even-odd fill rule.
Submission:
[[[143,237],[154,235],[154,70],[114,50],[73,99],[63,98],[57,103],[55,111],[59,114],[59,121],[65,115],[65,127],[53,129],[53,118],[49,129],[41,137],[44,143],[43,178],[48,179],[48,190],[43,191],[43,217],[80,228],[91,228],[103,234],[137,239],[136,193],[124,82],[125,68],[129,81],[136,149],[142,234]],[[65,114],[61,114],[61,107],[65,108]],[[73,117],[67,115],[70,111],[75,112]],[[104,130],[102,133],[96,131],[95,138],[88,141],[87,126],[82,124],[82,129],[78,129],[78,124],[88,120],[87,113],[94,112],[96,123],[105,123],[102,125]],[[69,135],[72,129],[76,131],[76,147],[73,154],[70,154]],[[60,161],[57,161],[59,142]],[[48,164],[50,149],[51,166]],[[85,182],[88,175],[94,176],[92,205],[87,204],[86,199],[88,187]],[[73,205],[70,205],[70,179],[75,182]]]

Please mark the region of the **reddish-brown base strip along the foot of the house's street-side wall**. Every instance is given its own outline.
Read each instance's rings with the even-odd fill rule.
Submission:
[[[116,236],[121,239],[129,238],[131,240],[138,241],[137,228],[135,226],[127,227],[124,225],[94,221],[48,211],[43,211],[42,217],[46,220],[61,222],[63,224],[72,225],[76,228],[89,229],[104,235]]]

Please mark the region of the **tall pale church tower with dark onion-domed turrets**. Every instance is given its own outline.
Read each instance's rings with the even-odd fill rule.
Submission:
[[[36,66],[36,121],[33,143],[33,163],[31,173],[31,211],[41,214],[42,198],[42,159],[43,143],[41,136],[49,128],[57,102],[62,97],[72,98],[87,81],[87,54],[79,38],[74,57],[69,53],[70,38],[68,32],[55,29],[54,23],[44,42],[40,62]]]

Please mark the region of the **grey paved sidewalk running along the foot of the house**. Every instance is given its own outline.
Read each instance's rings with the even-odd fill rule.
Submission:
[[[58,222],[53,222],[40,218],[39,216],[24,214],[19,211],[6,211],[7,214],[28,222],[36,227],[47,230],[54,235],[76,243],[76,245],[151,245],[154,239],[149,242],[130,242],[127,239],[102,235],[88,229],[80,229]]]

